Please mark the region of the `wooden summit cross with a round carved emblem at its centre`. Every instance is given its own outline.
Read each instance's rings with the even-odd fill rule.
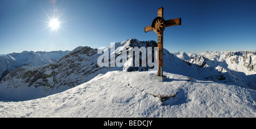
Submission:
[[[164,20],[163,19],[163,7],[158,9],[158,17],[156,17],[151,25],[144,28],[144,32],[153,31],[158,34],[158,75],[154,76],[154,79],[163,81],[166,76],[163,76],[163,31],[166,27],[174,25],[181,25],[181,18]]]

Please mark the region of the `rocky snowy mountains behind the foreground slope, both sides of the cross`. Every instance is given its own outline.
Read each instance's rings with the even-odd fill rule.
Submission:
[[[155,41],[139,41],[137,39],[117,42],[114,45],[115,48],[123,46],[127,51],[129,47],[157,46]],[[110,50],[111,48],[113,48],[113,45],[104,50]],[[0,98],[1,100],[12,101],[31,100],[66,91],[109,71],[130,72],[148,71],[150,69],[148,66],[130,66],[130,63],[134,63],[134,58],[131,56],[134,57],[135,55],[128,55],[128,61],[122,67],[99,67],[97,59],[102,54],[97,54],[97,52],[98,49],[79,46],[55,62],[40,58],[38,59],[39,62],[50,63],[40,66],[33,66],[35,63],[32,63],[30,64],[31,67],[27,65],[26,67],[16,68],[0,82]],[[115,59],[117,55],[120,55],[119,53],[109,53],[109,57],[112,57],[113,54]],[[14,55],[5,55],[4,57],[15,58]],[[200,54],[179,52],[172,54],[164,49],[163,70],[192,79],[256,89],[255,57],[255,51],[206,52]],[[152,58],[154,58],[154,55],[152,55]],[[15,60],[13,59],[13,61]]]

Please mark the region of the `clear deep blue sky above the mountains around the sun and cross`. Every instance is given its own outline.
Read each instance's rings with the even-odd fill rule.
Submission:
[[[164,19],[182,25],[164,31],[164,48],[184,51],[256,50],[256,1],[252,0],[1,0],[0,54],[100,48],[129,38],[157,40],[144,27],[164,7]],[[61,14],[64,30],[51,33],[47,14]]]

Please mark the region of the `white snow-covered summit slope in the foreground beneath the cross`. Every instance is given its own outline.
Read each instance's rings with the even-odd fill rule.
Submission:
[[[256,117],[256,92],[156,71],[112,71],[36,100],[0,102],[0,117]],[[160,101],[158,96],[175,97]]]

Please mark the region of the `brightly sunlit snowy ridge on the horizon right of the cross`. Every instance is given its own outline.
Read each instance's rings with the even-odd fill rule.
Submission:
[[[213,67],[214,65],[214,67],[223,67],[218,64],[218,62],[223,62],[230,70],[243,72],[246,75],[256,74],[256,51],[207,51],[199,54],[178,52],[174,54],[184,61],[201,67]]]

